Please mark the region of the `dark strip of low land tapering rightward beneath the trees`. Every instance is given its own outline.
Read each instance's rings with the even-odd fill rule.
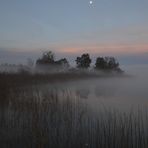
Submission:
[[[69,80],[82,80],[102,77],[127,77],[126,74],[108,74],[87,71],[69,71],[57,73],[34,73],[20,71],[19,73],[0,73],[0,87],[39,85],[45,83],[64,82]]]

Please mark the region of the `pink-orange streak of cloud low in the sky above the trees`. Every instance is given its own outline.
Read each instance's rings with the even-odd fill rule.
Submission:
[[[148,52],[148,44],[120,44],[120,43],[109,43],[100,45],[81,45],[75,47],[63,47],[59,49],[60,52],[64,53],[112,53],[112,54],[135,54]]]

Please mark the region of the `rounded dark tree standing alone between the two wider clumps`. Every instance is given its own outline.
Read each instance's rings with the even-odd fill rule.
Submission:
[[[91,59],[89,54],[83,54],[81,57],[77,57],[76,64],[78,68],[88,68],[90,67]]]

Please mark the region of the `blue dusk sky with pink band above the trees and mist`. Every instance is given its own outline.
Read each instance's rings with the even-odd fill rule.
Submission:
[[[52,50],[148,63],[147,8],[147,0],[0,0],[0,62]]]

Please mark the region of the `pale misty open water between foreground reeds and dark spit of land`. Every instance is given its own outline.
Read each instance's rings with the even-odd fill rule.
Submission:
[[[123,66],[129,77],[95,78],[57,83],[50,88],[78,96],[92,109],[123,111],[148,106],[148,65]]]

